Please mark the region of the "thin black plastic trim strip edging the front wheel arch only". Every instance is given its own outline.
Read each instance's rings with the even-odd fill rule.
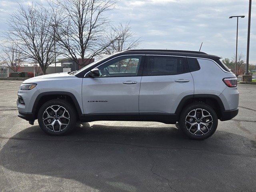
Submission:
[[[82,111],[81,111],[81,108],[78,104],[78,101],[76,100],[76,97],[70,93],[70,92],[65,92],[65,91],[50,91],[50,92],[43,92],[43,93],[40,93],[35,102],[34,102],[34,105],[33,105],[33,109],[32,109],[32,113],[35,113],[36,112],[36,109],[37,109],[37,105],[38,105],[38,102],[40,101],[40,99],[42,98],[42,96],[46,96],[46,95],[67,95],[67,96],[70,96],[70,98],[72,98],[75,106],[76,106],[76,111],[78,112],[78,115],[81,116],[82,115]]]

